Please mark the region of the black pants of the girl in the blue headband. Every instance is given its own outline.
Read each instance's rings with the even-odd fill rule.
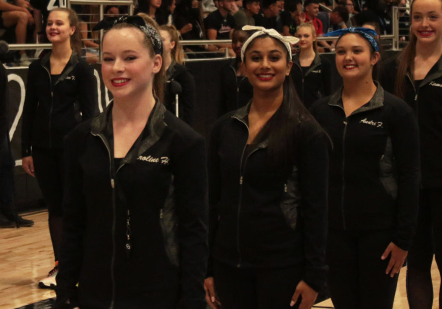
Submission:
[[[391,241],[390,230],[329,230],[327,264],[335,309],[391,309],[398,275],[387,275],[389,258],[381,256]]]

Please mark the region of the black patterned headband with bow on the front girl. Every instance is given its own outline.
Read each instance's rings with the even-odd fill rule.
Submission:
[[[160,33],[153,27],[144,22],[144,20],[138,15],[120,16],[120,17],[107,17],[100,21],[92,31],[98,31],[101,29],[109,30],[116,24],[126,23],[136,26],[138,29],[150,39],[154,52],[156,54],[163,54],[163,41],[161,40]]]

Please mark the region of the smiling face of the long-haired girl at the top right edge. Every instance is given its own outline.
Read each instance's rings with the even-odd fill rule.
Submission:
[[[411,32],[420,43],[442,40],[442,1],[415,0],[412,7]]]

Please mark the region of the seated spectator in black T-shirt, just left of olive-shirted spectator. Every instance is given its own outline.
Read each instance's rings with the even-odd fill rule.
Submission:
[[[233,0],[219,0],[218,10],[212,12],[206,18],[207,36],[209,40],[228,40],[235,28],[235,19],[230,15],[233,8]],[[218,50],[228,48],[230,55],[235,55],[229,45],[217,45]]]

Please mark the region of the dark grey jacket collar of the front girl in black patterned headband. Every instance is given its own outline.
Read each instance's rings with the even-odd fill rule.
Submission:
[[[110,149],[110,141],[111,138],[113,138],[112,107],[113,102],[108,105],[103,113],[92,120],[90,129],[92,135],[101,137],[110,153],[112,153]],[[141,133],[142,140],[138,153],[134,154],[135,150],[131,149],[122,160],[122,164],[130,162],[133,155],[141,155],[161,138],[164,129],[167,127],[164,121],[165,112],[166,107],[157,99],[154,108],[149,115],[149,119],[147,120],[146,127]]]

